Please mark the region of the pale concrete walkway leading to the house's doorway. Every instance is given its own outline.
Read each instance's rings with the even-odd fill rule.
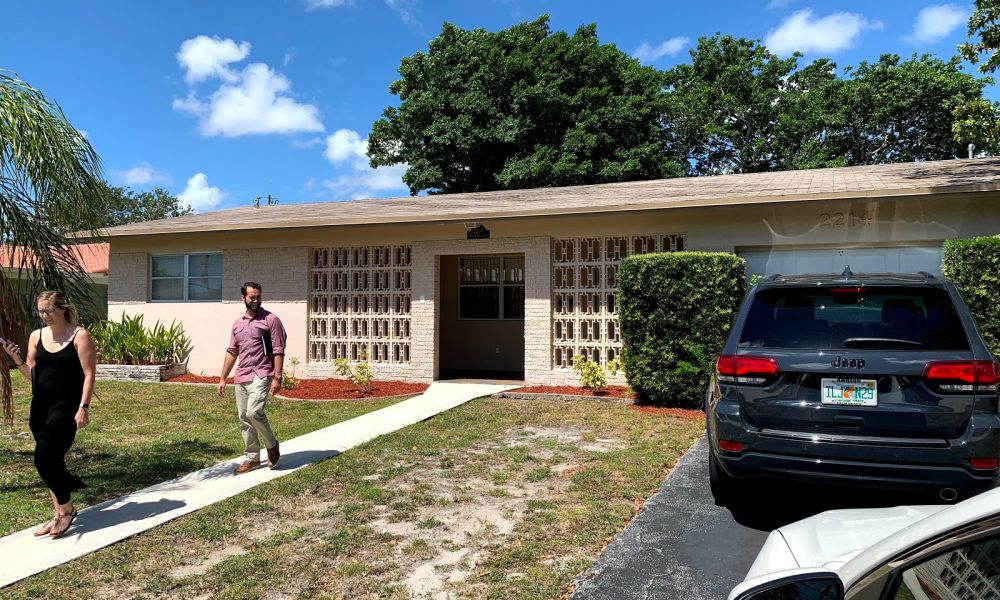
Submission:
[[[273,471],[264,468],[234,476],[233,469],[243,461],[241,455],[127,496],[89,506],[80,511],[73,528],[61,538],[34,537],[32,534],[38,529],[37,524],[0,538],[0,588],[293,473],[314,461],[336,456],[380,435],[429,419],[474,398],[516,387],[434,383],[415,398],[294,439],[282,440],[281,461]]]

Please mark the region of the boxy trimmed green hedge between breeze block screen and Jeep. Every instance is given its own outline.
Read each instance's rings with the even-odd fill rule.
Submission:
[[[622,366],[639,402],[701,408],[715,356],[746,293],[734,254],[642,254],[618,270]]]

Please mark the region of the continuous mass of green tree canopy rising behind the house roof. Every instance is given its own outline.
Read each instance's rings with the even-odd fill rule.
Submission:
[[[690,57],[658,71],[601,45],[594,25],[553,33],[545,16],[496,33],[446,23],[402,60],[390,86],[400,104],[374,123],[368,156],[406,164],[417,194],[937,160],[1000,144],[983,99],[992,80],[959,57],[800,67],[799,54],[721,34]]]

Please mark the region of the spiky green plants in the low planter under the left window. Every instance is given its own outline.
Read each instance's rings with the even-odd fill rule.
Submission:
[[[184,362],[191,341],[184,327],[159,321],[146,329],[142,315],[122,315],[120,322],[102,321],[89,328],[98,361],[116,365],[164,365]]]

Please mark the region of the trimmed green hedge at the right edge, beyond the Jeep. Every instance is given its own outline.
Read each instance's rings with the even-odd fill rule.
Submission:
[[[1000,236],[945,241],[941,272],[961,292],[993,356],[1000,356]]]

